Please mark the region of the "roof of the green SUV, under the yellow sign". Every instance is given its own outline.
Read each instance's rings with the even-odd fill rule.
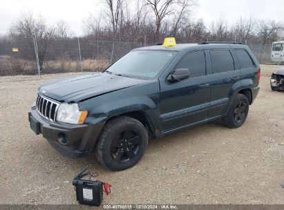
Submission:
[[[214,46],[218,46],[220,48],[220,46],[244,46],[244,45],[240,45],[240,44],[177,44],[176,46],[162,46],[162,45],[154,45],[154,46],[146,46],[146,47],[142,47],[142,48],[135,48],[133,50],[167,50],[167,51],[181,51],[187,48],[199,48],[200,49],[205,49],[205,48],[212,48]]]

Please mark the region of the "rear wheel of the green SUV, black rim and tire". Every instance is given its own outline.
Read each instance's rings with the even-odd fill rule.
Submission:
[[[248,113],[249,99],[245,95],[238,93],[227,116],[222,117],[223,124],[229,128],[238,128],[243,125]]]

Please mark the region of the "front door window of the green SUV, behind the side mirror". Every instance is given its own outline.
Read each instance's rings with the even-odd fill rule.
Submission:
[[[176,68],[188,68],[189,77],[201,77],[206,75],[205,52],[195,51],[184,55]]]

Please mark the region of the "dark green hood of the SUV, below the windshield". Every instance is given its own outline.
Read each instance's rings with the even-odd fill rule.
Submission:
[[[39,87],[39,92],[59,102],[79,102],[84,99],[128,88],[149,80],[93,73],[59,79]]]

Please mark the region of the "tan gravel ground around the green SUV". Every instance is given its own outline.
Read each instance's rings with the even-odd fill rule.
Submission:
[[[284,204],[284,93],[277,66],[262,66],[261,90],[245,124],[219,121],[149,142],[132,169],[111,172],[93,156],[68,159],[29,128],[37,87],[76,74],[0,77],[0,204],[76,204],[73,177],[87,164],[113,184],[103,204]]]

